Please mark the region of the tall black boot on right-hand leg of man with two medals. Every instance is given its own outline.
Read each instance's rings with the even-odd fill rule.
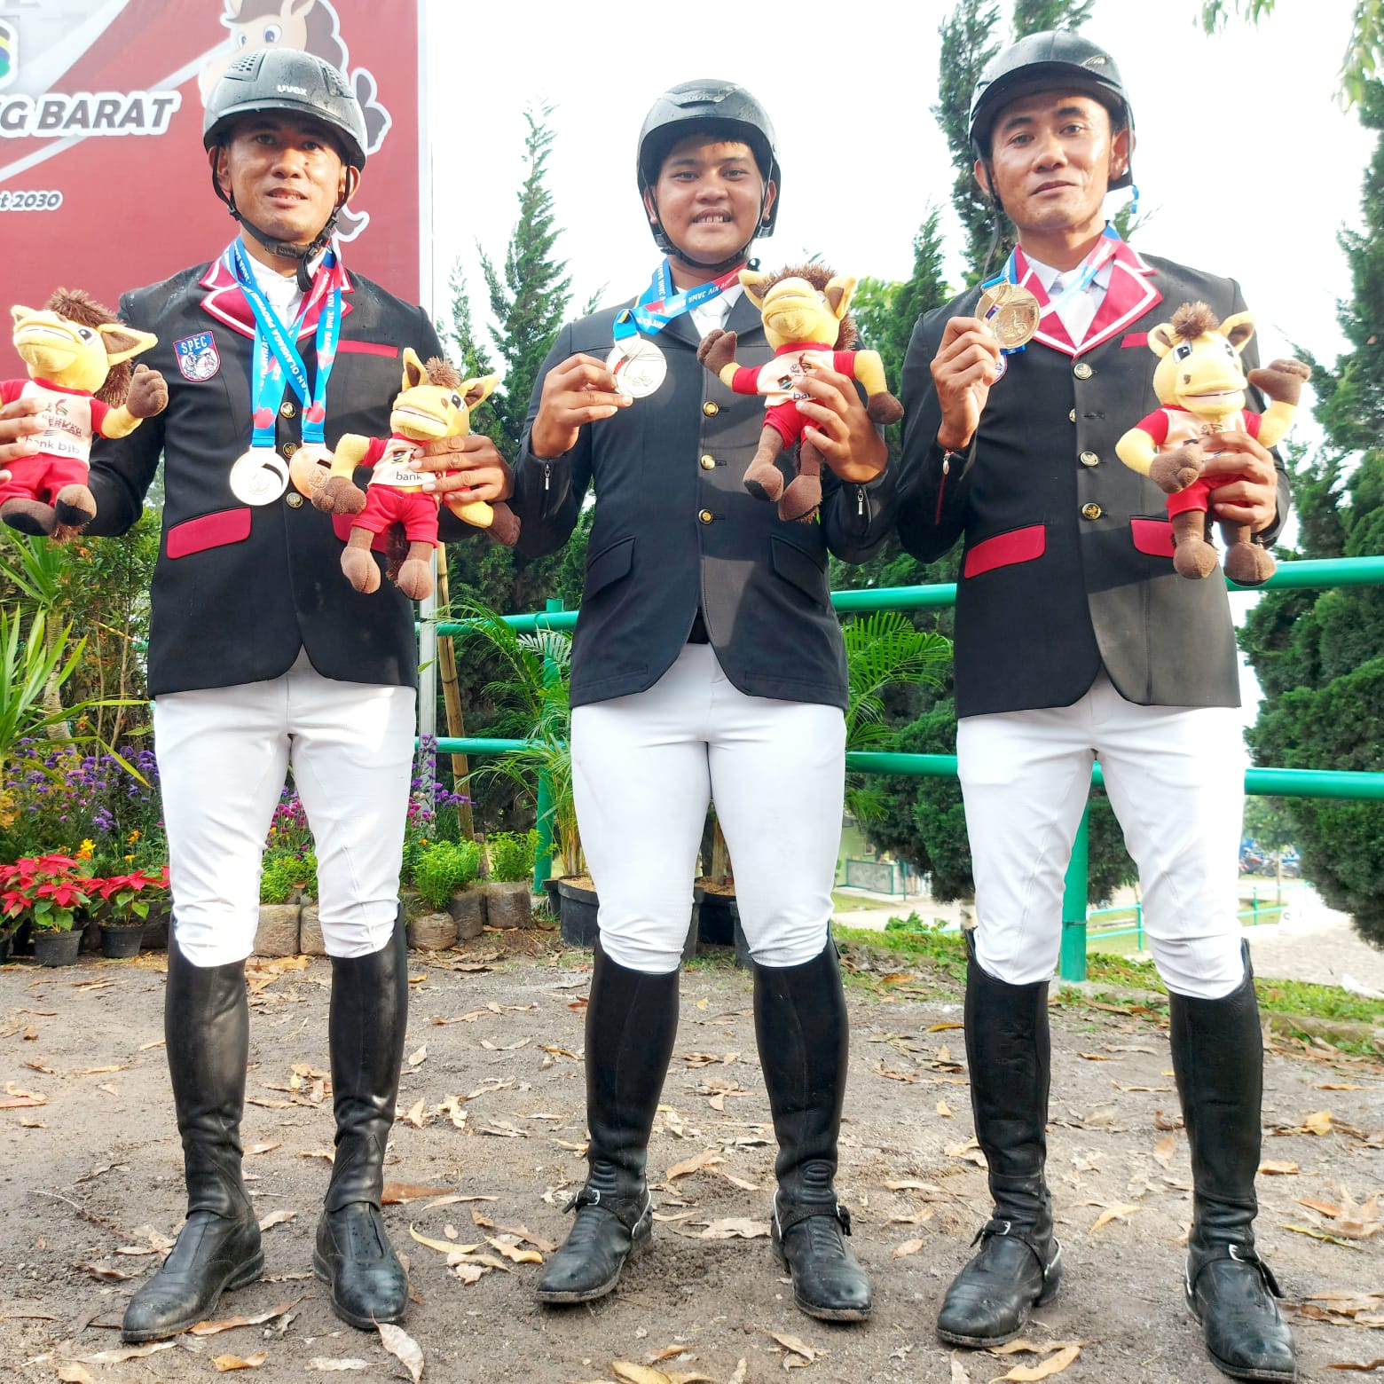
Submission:
[[[332,958],[328,1034],[336,1158],[317,1222],[313,1272],[331,1284],[336,1315],[363,1330],[401,1322],[408,1306],[408,1275],[379,1211],[407,1026],[403,926],[378,952]]]

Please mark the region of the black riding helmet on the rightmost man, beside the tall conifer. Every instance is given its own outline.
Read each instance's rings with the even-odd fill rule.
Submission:
[[[1030,33],[996,54],[976,83],[970,100],[970,147],[990,166],[990,137],[999,111],[1034,91],[1071,87],[1089,91],[1111,115],[1113,129],[1128,129],[1131,154],[1133,109],[1116,60],[1089,39],[1066,29]],[[1129,187],[1129,165],[1110,180],[1110,187]]]

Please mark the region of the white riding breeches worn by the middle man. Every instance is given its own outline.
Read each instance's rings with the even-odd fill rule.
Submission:
[[[646,692],[573,710],[572,778],[612,960],[677,969],[713,799],[756,962],[821,955],[841,839],[839,707],[747,696],[711,645],[689,644]]]

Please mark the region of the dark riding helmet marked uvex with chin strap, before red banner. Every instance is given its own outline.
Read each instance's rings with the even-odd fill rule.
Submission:
[[[216,177],[216,151],[226,143],[241,116],[268,111],[321,120],[336,136],[342,163],[347,169],[356,169],[357,177],[365,166],[365,113],[339,68],[299,48],[257,48],[255,53],[246,53],[221,73],[208,97],[202,116],[202,147],[210,155],[212,185],[216,188],[216,195],[230,208],[231,216],[270,253],[298,260],[298,282],[306,292],[311,282],[307,278],[307,263],[331,239],[336,217],[346,205],[354,180],[347,174],[347,195],[332,209],[327,224],[311,245],[277,241],[246,221],[237,209],[234,197],[221,191]]]

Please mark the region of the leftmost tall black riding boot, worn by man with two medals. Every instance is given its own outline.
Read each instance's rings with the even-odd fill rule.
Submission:
[[[169,941],[163,1037],[183,1136],[187,1223],[125,1309],[127,1341],[159,1341],[210,1316],[227,1289],[264,1272],[259,1221],[241,1179],[249,1062],[245,962],[194,966]]]

